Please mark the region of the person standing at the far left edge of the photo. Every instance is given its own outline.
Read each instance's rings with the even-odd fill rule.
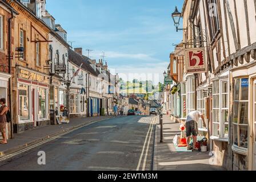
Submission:
[[[0,99],[0,131],[3,137],[3,140],[0,142],[1,144],[7,144],[7,139],[6,139],[6,113],[8,111],[8,107],[6,106],[6,99],[1,98]]]

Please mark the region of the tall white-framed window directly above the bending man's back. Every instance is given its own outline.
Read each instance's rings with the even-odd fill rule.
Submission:
[[[187,80],[187,114],[195,110],[195,78],[189,77]]]

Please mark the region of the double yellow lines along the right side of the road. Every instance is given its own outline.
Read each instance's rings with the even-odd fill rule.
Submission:
[[[139,169],[141,168],[141,164],[142,164],[142,158],[144,156],[144,160],[143,160],[143,165],[142,165],[142,171],[145,171],[146,169],[146,162],[147,162],[147,154],[149,154],[149,146],[150,146],[150,140],[151,140],[151,136],[152,136],[152,131],[154,128],[154,123],[157,117],[154,117],[150,123],[149,126],[149,130],[147,131],[147,135],[146,135],[146,139],[142,148],[142,152],[141,152],[141,156],[139,158],[139,163],[137,166],[137,171],[139,171]],[[144,155],[145,153],[145,155]]]

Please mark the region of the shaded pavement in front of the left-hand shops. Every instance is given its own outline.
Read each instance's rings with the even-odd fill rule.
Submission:
[[[47,125],[15,134],[14,139],[8,140],[7,144],[0,144],[0,158],[42,142],[43,140],[55,137],[66,131],[85,126],[91,122],[102,121],[109,118],[111,117],[71,118],[69,124]]]

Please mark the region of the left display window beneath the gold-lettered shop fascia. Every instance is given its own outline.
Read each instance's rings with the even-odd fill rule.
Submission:
[[[19,118],[21,120],[30,119],[30,86],[19,85]]]

